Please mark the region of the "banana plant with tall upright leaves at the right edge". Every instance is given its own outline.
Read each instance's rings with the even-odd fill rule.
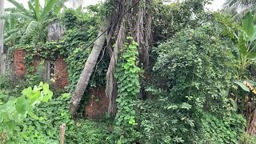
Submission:
[[[242,106],[246,104],[248,98],[252,98],[256,94],[256,82],[250,79],[250,66],[253,66],[256,60],[256,26],[254,25],[254,15],[251,12],[245,14],[242,18],[242,27],[238,31],[238,35],[235,35],[238,39],[238,81],[234,82],[241,89],[235,90],[232,99],[235,102],[238,100],[238,95],[241,95],[240,99],[243,103]],[[241,91],[242,90],[242,91]],[[252,93],[250,93],[252,92]],[[239,93],[239,94],[238,94]]]

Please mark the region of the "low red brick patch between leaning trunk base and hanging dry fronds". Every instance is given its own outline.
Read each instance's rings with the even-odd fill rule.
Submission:
[[[105,87],[90,88],[89,104],[86,106],[88,118],[100,118],[107,112],[109,101],[106,98]]]

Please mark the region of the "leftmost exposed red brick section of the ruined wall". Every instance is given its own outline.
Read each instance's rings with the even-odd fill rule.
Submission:
[[[25,53],[22,49],[17,49],[14,51],[14,76],[22,77],[26,74],[25,66]]]

